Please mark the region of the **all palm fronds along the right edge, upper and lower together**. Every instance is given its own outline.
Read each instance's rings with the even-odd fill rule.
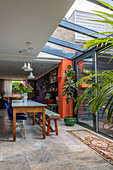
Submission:
[[[108,8],[113,10],[113,7],[109,4],[99,1]],[[104,20],[93,20],[97,22],[104,22],[109,23],[113,27],[113,21],[110,19],[110,17],[113,19],[113,14],[101,12],[101,11],[95,11],[96,15],[101,17]],[[103,16],[104,14],[104,16]],[[91,49],[95,45],[98,47],[101,45],[101,47],[104,46],[100,51],[105,50],[101,55],[103,55],[105,52],[109,51],[113,48],[113,38],[112,34],[113,32],[101,32],[99,34],[107,34],[108,36],[104,38],[96,38],[93,40],[85,41],[85,45],[83,46],[85,49]],[[113,59],[111,57],[110,61]],[[109,62],[110,62],[109,61]],[[83,94],[78,97],[75,102],[75,113],[79,107],[79,104],[81,101],[85,100],[87,98],[86,106],[89,106],[89,109],[92,111],[92,113],[96,114],[101,106],[105,105],[105,108],[102,113],[102,118],[105,113],[106,108],[109,106],[108,114],[107,114],[107,121],[108,124],[110,122],[111,116],[113,114],[113,70],[108,71],[102,71],[102,72],[95,72],[92,75],[85,76],[78,80],[76,82],[76,86],[78,87],[82,81],[87,81],[88,78],[95,78],[97,77],[97,82],[92,82],[88,88],[85,89]],[[92,87],[92,88],[91,88]]]

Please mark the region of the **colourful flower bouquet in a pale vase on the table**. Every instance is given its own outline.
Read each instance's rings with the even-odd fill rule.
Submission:
[[[27,80],[26,80],[25,83],[19,84],[19,93],[21,94],[23,103],[27,102],[27,94],[32,92],[32,91],[33,91],[33,88],[31,87],[30,84],[28,84]]]

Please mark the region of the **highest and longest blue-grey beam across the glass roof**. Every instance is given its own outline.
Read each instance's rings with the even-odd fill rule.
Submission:
[[[61,23],[59,24],[60,27],[65,28],[65,29],[69,29],[71,31],[75,31],[93,38],[104,38],[105,35],[104,34],[95,34],[98,33],[96,31],[93,31],[89,28],[74,24],[72,22],[66,21],[66,20],[62,20]],[[95,34],[95,35],[91,35],[91,34]]]

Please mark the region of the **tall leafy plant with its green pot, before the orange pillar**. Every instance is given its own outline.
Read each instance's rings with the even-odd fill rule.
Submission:
[[[62,92],[62,96],[67,95],[66,103],[69,104],[70,108],[69,116],[64,117],[64,122],[67,126],[73,126],[76,123],[76,118],[71,117],[71,100],[73,99],[76,86],[74,84],[75,71],[73,70],[73,68],[71,68],[71,65],[68,65],[67,70],[65,70],[65,73],[63,75],[64,86],[62,89],[64,89],[64,91]]]

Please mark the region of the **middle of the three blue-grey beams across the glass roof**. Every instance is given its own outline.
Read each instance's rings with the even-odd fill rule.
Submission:
[[[50,37],[48,42],[53,43],[53,44],[57,44],[57,45],[60,45],[60,46],[63,46],[63,47],[68,47],[68,48],[71,48],[73,50],[77,50],[77,51],[80,51],[80,52],[84,51],[84,49],[82,48],[83,45],[77,45],[77,44],[70,43],[70,42],[67,42],[67,41],[64,41],[64,40],[60,40],[60,39],[57,39],[57,38],[54,38],[54,37]]]

